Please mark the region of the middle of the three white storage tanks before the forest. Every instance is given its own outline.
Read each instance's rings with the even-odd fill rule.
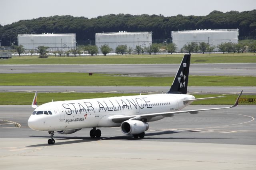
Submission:
[[[108,32],[108,33],[96,33],[95,44],[100,46],[107,44],[115,51],[118,45],[127,45],[127,48],[136,48],[137,45],[142,48],[148,47],[152,44],[152,32]],[[99,50],[100,52],[100,50]]]

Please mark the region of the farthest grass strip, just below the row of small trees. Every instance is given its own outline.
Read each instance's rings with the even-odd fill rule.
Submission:
[[[1,60],[0,64],[180,64],[184,54],[112,55],[38,58],[38,56],[14,56]],[[191,63],[247,63],[256,62],[255,53],[241,54],[191,54]]]

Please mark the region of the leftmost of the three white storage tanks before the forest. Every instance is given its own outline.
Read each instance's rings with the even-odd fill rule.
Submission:
[[[18,34],[18,45],[24,46],[25,50],[46,46],[50,51],[67,51],[76,48],[76,34]]]

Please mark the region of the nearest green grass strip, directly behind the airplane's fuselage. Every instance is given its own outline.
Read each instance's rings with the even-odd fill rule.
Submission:
[[[114,96],[132,96],[139,94],[113,94],[113,93],[38,93],[38,105],[51,102],[52,99],[54,101],[62,101],[62,100],[77,100],[77,99],[89,99],[89,98],[103,98],[103,97],[114,97]],[[11,92],[3,92],[0,93],[0,105],[30,105],[34,98],[34,93],[11,93]],[[217,94],[206,94],[193,95],[196,98],[204,98],[204,97],[213,97],[218,96]],[[219,95],[221,96],[221,95]],[[193,102],[192,104],[234,104],[238,95],[227,95],[224,98],[217,99],[208,99],[208,100],[200,100],[197,102]],[[246,98],[256,98],[253,95],[242,95],[241,97]],[[246,104],[246,103],[242,103]],[[252,104],[252,103],[249,103]]]

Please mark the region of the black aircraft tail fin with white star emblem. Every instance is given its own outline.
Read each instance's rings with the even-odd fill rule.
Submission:
[[[190,66],[190,54],[185,54],[180,63],[179,70],[172,82],[172,86],[167,93],[187,94],[188,74]]]

